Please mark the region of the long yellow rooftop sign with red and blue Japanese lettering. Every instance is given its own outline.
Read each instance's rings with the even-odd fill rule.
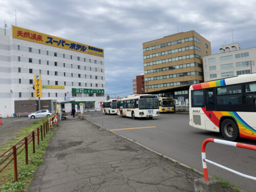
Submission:
[[[12,26],[12,37],[16,39],[36,42],[37,44],[43,44],[61,49],[67,49],[71,51],[77,51],[80,53],[104,57],[103,49],[89,46],[86,44],[80,44],[79,42],[55,37],[45,33],[39,33],[21,27]]]

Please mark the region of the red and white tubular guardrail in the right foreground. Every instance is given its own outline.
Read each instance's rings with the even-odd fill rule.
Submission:
[[[215,163],[213,161],[210,161],[210,160],[206,159],[205,147],[206,147],[206,144],[208,142],[219,143],[219,144],[223,144],[223,145],[229,145],[229,146],[240,147],[240,148],[247,148],[247,150],[256,151],[256,145],[249,145],[249,144],[244,144],[244,143],[237,143],[237,142],[225,141],[225,140],[213,139],[213,138],[209,138],[209,139],[204,140],[204,142],[202,144],[201,152],[202,152],[202,163],[203,163],[203,172],[204,172],[204,180],[205,181],[209,181],[206,162],[214,164],[214,165],[216,165],[218,167],[226,169],[229,172],[232,172],[234,174],[240,175],[242,177],[245,177],[245,178],[248,178],[248,179],[252,179],[252,180],[256,180],[256,177],[252,177],[252,176],[249,176],[249,175],[242,174],[240,172],[237,172],[236,170],[233,170],[231,168],[225,167],[223,165],[220,165],[218,163]]]

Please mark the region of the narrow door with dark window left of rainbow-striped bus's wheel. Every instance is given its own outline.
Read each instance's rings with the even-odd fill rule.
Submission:
[[[219,129],[216,127],[216,116],[214,115],[213,111],[215,111],[215,89],[206,89],[205,90],[205,127],[207,131],[219,131]]]

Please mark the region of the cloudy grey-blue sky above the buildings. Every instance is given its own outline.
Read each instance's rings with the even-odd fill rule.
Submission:
[[[106,94],[132,94],[132,78],[143,72],[142,43],[195,30],[211,42],[256,47],[256,1],[0,0],[4,20],[42,33],[103,48]],[[178,25],[177,25],[178,24]],[[179,26],[179,27],[178,27]]]

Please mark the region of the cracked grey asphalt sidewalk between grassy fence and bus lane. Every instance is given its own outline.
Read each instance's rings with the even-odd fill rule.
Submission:
[[[29,191],[194,191],[202,176],[95,124],[61,121]],[[223,191],[234,191],[224,189]]]

